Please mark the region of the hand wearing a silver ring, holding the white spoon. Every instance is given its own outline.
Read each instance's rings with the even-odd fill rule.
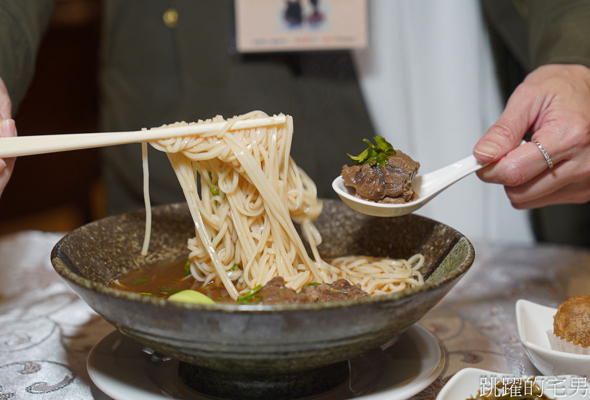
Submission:
[[[535,143],[518,146],[527,132],[545,148],[553,168]],[[517,209],[589,201],[590,68],[549,64],[531,72],[473,155],[493,163],[477,175],[503,184]]]

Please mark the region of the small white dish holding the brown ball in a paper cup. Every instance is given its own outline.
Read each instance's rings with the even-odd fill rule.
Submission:
[[[553,350],[547,336],[553,330],[556,308],[529,300],[516,302],[516,326],[530,362],[543,375],[582,375],[590,378],[590,355]],[[589,394],[590,395],[590,394]]]

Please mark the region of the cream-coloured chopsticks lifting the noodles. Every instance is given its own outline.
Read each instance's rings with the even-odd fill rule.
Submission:
[[[280,125],[284,123],[286,123],[286,117],[284,115],[268,118],[253,118],[235,121],[230,127],[230,130]],[[129,132],[0,137],[0,158],[31,156],[32,154],[54,153],[57,151],[80,150],[81,148],[104,147],[169,137],[198,135],[221,130],[225,124],[225,122],[197,124]]]

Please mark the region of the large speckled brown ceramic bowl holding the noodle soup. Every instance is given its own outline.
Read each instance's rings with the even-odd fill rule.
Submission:
[[[423,253],[427,283],[395,295],[303,305],[194,305],[104,286],[127,270],[181,259],[194,227],[185,204],[153,209],[152,242],[140,255],[143,211],[80,227],[51,253],[55,270],[126,335],[161,353],[223,372],[288,373],[349,359],[394,338],[420,319],[471,266],[461,233],[415,215],[379,218],[326,200],[316,226],[324,257],[407,258]]]

